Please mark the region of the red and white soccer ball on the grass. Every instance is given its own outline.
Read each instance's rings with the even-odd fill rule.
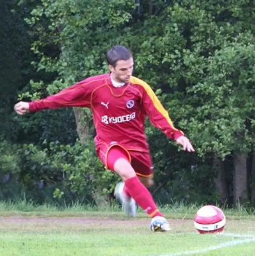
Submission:
[[[226,225],[223,211],[214,205],[201,207],[195,217],[194,226],[200,234],[220,233]]]

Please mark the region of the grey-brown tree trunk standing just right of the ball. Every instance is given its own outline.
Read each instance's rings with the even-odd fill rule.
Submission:
[[[234,154],[233,200],[236,207],[247,201],[247,154]]]

